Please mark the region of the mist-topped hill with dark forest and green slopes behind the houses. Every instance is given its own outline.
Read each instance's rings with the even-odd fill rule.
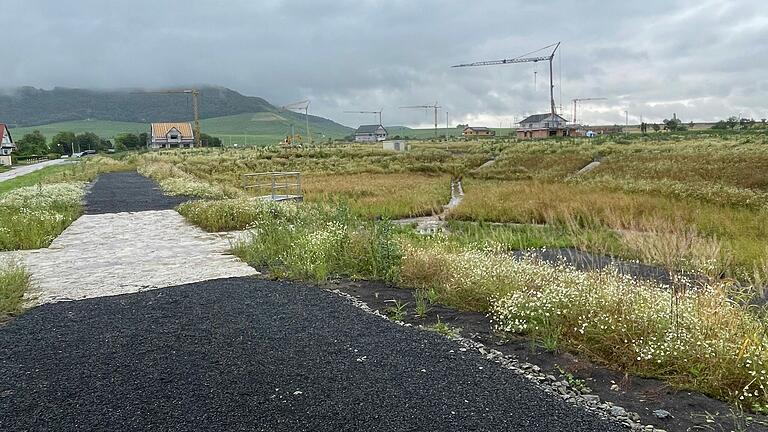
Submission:
[[[273,144],[290,133],[306,134],[301,113],[283,111],[259,97],[244,96],[222,87],[200,88],[202,131],[225,144]],[[0,121],[15,137],[35,129],[46,136],[61,131],[93,132],[103,138],[149,130],[149,123],[190,121],[191,96],[138,93],[131,90],[95,91],[22,87],[0,93]],[[323,117],[309,116],[315,141],[341,138],[354,130]]]

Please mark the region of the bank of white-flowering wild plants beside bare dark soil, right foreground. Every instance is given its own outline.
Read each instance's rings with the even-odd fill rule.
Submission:
[[[726,282],[674,287],[614,269],[584,272],[495,247],[408,247],[401,283],[488,312],[495,331],[532,336],[643,376],[746,407],[768,406],[768,334]]]

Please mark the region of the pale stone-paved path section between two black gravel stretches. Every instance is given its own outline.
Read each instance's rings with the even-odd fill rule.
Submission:
[[[32,274],[30,298],[52,303],[258,274],[230,246],[174,210],[157,210],[85,215],[49,248],[17,256]]]

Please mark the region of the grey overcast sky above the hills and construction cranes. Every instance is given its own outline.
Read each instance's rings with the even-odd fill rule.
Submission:
[[[546,63],[451,69],[562,41],[555,97],[587,123],[768,117],[768,4],[731,1],[0,0],[0,87],[214,84],[309,98],[347,125],[508,126],[547,112]],[[537,72],[534,74],[534,72]],[[537,83],[534,85],[534,75]]]

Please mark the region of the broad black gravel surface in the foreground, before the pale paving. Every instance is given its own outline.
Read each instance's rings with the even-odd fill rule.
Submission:
[[[0,430],[624,429],[437,334],[239,278],[44,305],[0,328]]]

